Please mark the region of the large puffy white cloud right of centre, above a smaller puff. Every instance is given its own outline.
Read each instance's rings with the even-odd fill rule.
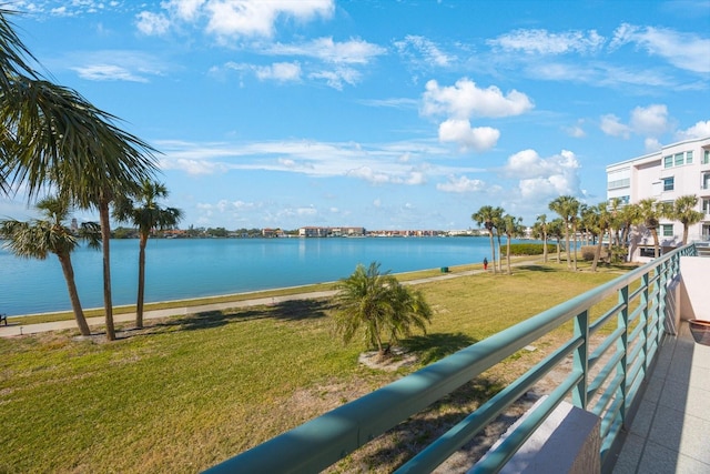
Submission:
[[[479,89],[469,79],[459,79],[453,87],[439,87],[435,80],[430,80],[424,92],[423,113],[446,114],[455,119],[499,118],[519,115],[532,108],[530,99],[516,90],[504,95],[495,85]]]

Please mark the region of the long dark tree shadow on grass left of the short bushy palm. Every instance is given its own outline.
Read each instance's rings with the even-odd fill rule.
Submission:
[[[203,311],[169,317],[152,324],[156,330],[195,331],[255,320],[301,321],[324,317],[332,307],[328,300],[291,300],[270,305]]]

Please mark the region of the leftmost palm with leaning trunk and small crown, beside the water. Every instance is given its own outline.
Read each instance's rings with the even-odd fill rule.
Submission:
[[[0,222],[0,235],[8,239],[6,245],[17,256],[24,259],[45,260],[50,253],[59,259],[69,290],[69,300],[82,335],[90,335],[91,331],[79,301],[79,292],[74,282],[74,269],[71,264],[71,252],[79,245],[79,240],[85,240],[90,248],[100,249],[101,234],[99,224],[87,222],[81,224],[75,236],[71,229],[64,225],[69,215],[67,201],[59,198],[45,198],[37,203],[44,220],[20,222],[8,219]]]

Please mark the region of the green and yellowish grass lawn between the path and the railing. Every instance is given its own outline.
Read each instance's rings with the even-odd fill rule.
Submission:
[[[615,276],[549,264],[422,284],[435,316],[404,341],[418,362],[395,372],[358,364],[367,347],[334,336],[326,300],[148,321],[112,343],[70,331],[0,340],[0,473],[201,471]],[[455,421],[535,357],[423,416]],[[333,471],[387,472],[406,455],[377,451]]]

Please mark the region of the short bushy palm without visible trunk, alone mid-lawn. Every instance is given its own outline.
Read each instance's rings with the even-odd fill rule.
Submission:
[[[379,273],[379,263],[367,269],[362,263],[355,272],[337,284],[335,296],[335,331],[348,343],[363,329],[365,341],[377,347],[384,356],[402,335],[408,335],[412,325],[426,332],[425,323],[432,319],[432,309],[419,292],[397,282],[389,272]],[[384,335],[389,335],[385,343]]]

